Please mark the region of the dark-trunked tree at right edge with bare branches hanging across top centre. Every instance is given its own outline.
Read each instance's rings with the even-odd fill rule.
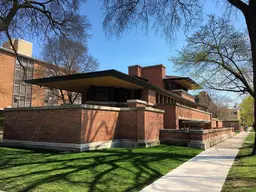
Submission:
[[[202,0],[104,0],[104,27],[107,33],[121,35],[126,29],[151,26],[162,31],[167,39],[173,36],[180,27],[190,28],[201,22]],[[256,1],[226,0],[226,3],[243,14],[250,40],[252,53],[253,87],[256,85]],[[230,12],[226,10],[226,12]],[[240,85],[238,85],[240,86]],[[255,98],[256,92],[251,86],[245,86]],[[242,88],[243,89],[243,88]],[[254,100],[256,108],[256,100]],[[256,119],[256,110],[254,111]],[[256,125],[254,127],[256,133]],[[256,155],[256,137],[253,154]]]

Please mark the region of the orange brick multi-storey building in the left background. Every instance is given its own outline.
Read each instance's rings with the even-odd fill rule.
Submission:
[[[15,39],[13,44],[18,52],[21,64],[9,42],[0,47],[0,109],[5,107],[50,106],[61,104],[56,91],[47,87],[36,87],[23,82],[26,79],[47,77],[54,65],[32,57],[32,44]],[[79,103],[79,100],[77,100]]]

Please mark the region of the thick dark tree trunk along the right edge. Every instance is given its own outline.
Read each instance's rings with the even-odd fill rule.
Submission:
[[[247,29],[249,32],[249,38],[251,42],[251,51],[252,51],[252,62],[253,62],[253,90],[255,90],[256,87],[256,12],[250,10],[250,12],[247,12],[245,15]],[[256,92],[253,92],[253,98],[254,98],[254,124],[253,128],[255,131],[255,140],[254,140],[254,146],[252,155],[256,155]]]

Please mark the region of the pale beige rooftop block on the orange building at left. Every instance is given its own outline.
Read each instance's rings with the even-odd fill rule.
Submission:
[[[32,57],[32,43],[22,39],[12,39],[12,43],[18,53]],[[10,41],[3,43],[3,47],[13,50]]]

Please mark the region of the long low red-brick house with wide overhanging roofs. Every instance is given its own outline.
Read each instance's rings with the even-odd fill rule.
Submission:
[[[32,77],[27,86],[77,92],[82,104],[46,107],[34,105],[33,98],[32,107],[6,102],[13,106],[4,110],[7,145],[83,151],[162,142],[208,148],[233,135],[233,128],[223,128],[188,93],[197,83],[166,75],[162,64],[129,66],[128,74],[106,70]]]

